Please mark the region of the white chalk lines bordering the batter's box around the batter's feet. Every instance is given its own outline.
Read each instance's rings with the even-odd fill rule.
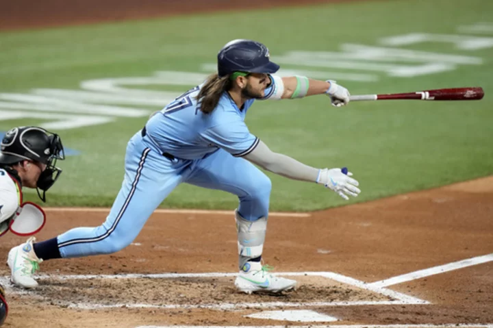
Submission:
[[[38,279],[57,279],[57,280],[90,280],[90,279],[173,279],[173,278],[212,278],[212,277],[236,277],[238,273],[129,273],[123,275],[39,275],[36,276]],[[156,307],[163,309],[175,309],[175,308],[207,308],[207,309],[217,309],[217,310],[231,310],[236,308],[244,307],[325,307],[325,306],[349,306],[349,305],[404,305],[404,304],[429,304],[429,302],[416,297],[411,297],[409,295],[403,294],[401,292],[394,292],[393,290],[388,290],[385,288],[378,288],[375,286],[368,287],[368,284],[364,281],[359,281],[351,277],[346,277],[344,275],[339,275],[338,273],[331,272],[301,272],[301,273],[276,273],[279,276],[316,276],[325,277],[334,281],[341,283],[346,283],[350,286],[355,286],[364,290],[369,290],[377,294],[383,294],[386,297],[390,297],[390,301],[343,301],[343,302],[314,302],[314,303],[295,303],[295,302],[268,302],[268,303],[222,303],[222,304],[204,304],[204,305],[149,305],[149,304],[94,304],[94,303],[79,303],[71,304],[70,307],[77,307],[83,309],[101,309],[108,307]],[[12,286],[10,279],[8,277],[0,277],[0,283],[7,288]],[[12,290],[14,294],[26,293],[25,291]],[[33,290],[32,292],[36,292]],[[29,292],[27,292],[29,293]]]

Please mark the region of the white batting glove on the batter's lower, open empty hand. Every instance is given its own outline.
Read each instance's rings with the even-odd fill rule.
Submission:
[[[343,172],[346,172],[344,174]],[[348,172],[347,168],[323,168],[318,173],[317,184],[323,184],[325,187],[337,192],[340,197],[349,201],[349,196],[357,197],[359,182],[351,177],[353,173]]]

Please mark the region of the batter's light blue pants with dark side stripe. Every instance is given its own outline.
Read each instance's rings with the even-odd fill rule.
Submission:
[[[81,257],[124,249],[181,183],[236,194],[240,201],[238,212],[247,220],[268,216],[270,179],[247,160],[223,149],[200,160],[169,160],[138,132],[127,145],[125,178],[105,222],[58,236],[60,255]]]

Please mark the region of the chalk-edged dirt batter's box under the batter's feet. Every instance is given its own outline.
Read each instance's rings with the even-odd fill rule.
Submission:
[[[336,273],[279,275],[296,277],[298,288],[282,296],[247,295],[233,288],[231,281],[236,273],[47,275],[40,277],[39,288],[22,293],[36,303],[45,300],[62,307],[86,310],[131,307],[251,312],[252,308],[428,303]],[[2,278],[1,282],[8,284],[8,278]]]

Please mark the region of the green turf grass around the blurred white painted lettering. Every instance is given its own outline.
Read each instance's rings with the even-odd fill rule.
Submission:
[[[344,42],[377,45],[378,38],[396,34],[456,34],[459,25],[492,17],[492,1],[371,1],[1,33],[0,92],[77,89],[86,79],[149,76],[154,71],[198,72],[234,38],[260,40],[273,56],[292,50],[338,51]],[[348,166],[362,189],[350,203],[491,175],[493,49],[464,51],[447,43],[407,49],[473,55],[484,64],[414,78],[376,73],[381,77],[377,83],[340,84],[352,94],[479,85],[485,88],[485,99],[366,102],[347,108],[332,108],[325,96],[266,101],[253,105],[247,125],[274,151],[306,164]],[[118,118],[107,125],[60,131],[66,147],[81,155],[60,162],[64,173],[49,191],[47,205],[111,205],[123,179],[127,140],[145,121]],[[0,131],[36,123],[40,121],[0,121]],[[273,181],[272,210],[347,203],[322,186],[268,176]],[[33,192],[26,194],[36,199]],[[162,207],[232,209],[237,203],[225,192],[182,185]]]

